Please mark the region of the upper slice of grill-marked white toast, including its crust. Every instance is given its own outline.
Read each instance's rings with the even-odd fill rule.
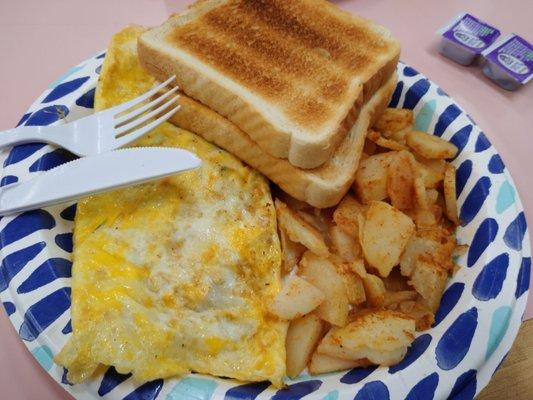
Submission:
[[[325,0],[202,0],[144,33],[138,50],[155,78],[176,75],[265,153],[315,168],[394,73],[400,46]]]

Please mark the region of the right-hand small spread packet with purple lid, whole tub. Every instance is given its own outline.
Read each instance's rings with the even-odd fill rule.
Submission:
[[[511,34],[482,53],[483,73],[506,90],[516,90],[533,77],[533,46]]]

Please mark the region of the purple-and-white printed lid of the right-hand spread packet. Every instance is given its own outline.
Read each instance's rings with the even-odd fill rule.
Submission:
[[[533,46],[520,36],[509,35],[483,52],[483,56],[518,82],[526,83],[533,77]]]

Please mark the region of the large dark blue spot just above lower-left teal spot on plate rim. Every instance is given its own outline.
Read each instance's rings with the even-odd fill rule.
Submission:
[[[70,307],[70,288],[62,288],[43,297],[28,308],[20,326],[22,339],[32,341]]]

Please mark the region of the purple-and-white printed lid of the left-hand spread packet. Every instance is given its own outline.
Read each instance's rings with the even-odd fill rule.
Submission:
[[[457,16],[445,29],[442,36],[476,54],[480,54],[500,36],[498,29],[467,13]]]

